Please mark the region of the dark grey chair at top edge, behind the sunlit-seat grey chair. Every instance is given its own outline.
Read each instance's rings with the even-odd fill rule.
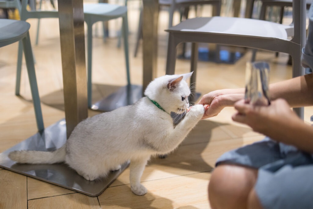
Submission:
[[[159,10],[161,7],[169,8],[169,20],[168,20],[168,28],[172,27],[173,25],[173,16],[175,11],[181,12],[181,20],[182,20],[182,10],[184,10],[185,18],[188,18],[188,10],[190,6],[197,6],[197,5],[212,5],[212,14],[213,16],[219,16],[221,11],[221,0],[159,0]],[[137,31],[137,40],[135,46],[135,53],[134,56],[137,56],[139,41],[141,39],[141,30],[142,30],[142,7],[140,9],[140,16],[139,16],[139,24],[138,24],[138,31]]]

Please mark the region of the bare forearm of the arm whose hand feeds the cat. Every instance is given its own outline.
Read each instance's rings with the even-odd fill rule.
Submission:
[[[290,107],[313,105],[313,76],[308,74],[269,86],[271,100],[284,98]]]

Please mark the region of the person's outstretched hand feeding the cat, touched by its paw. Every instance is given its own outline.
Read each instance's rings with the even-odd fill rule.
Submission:
[[[244,89],[222,89],[203,95],[198,102],[205,108],[202,119],[217,116],[224,107],[231,107],[242,98],[244,98]]]

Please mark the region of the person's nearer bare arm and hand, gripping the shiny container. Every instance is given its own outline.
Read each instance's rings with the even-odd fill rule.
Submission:
[[[254,106],[240,100],[234,107],[238,111],[232,117],[234,121],[247,124],[274,140],[313,153],[313,127],[304,123],[284,99],[274,100],[269,106]]]

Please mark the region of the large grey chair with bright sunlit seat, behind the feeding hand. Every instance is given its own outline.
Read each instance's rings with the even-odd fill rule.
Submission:
[[[305,8],[305,0],[293,1],[294,26],[234,17],[187,19],[166,30],[169,33],[166,74],[175,73],[177,45],[182,42],[192,42],[191,71],[194,72],[191,83],[195,82],[198,43],[201,42],[287,53],[293,59],[292,76],[303,75],[304,69],[300,64],[300,56],[301,48],[305,43]],[[294,31],[292,39],[288,39],[290,31]],[[192,91],[194,90],[192,89]],[[191,100],[193,99],[191,98]],[[303,107],[294,110],[303,118]]]

